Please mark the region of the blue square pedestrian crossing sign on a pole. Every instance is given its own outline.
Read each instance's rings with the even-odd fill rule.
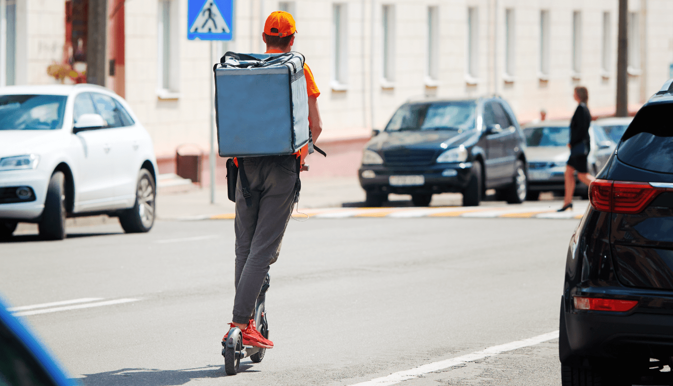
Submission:
[[[233,36],[234,0],[188,0],[189,40],[232,40]]]

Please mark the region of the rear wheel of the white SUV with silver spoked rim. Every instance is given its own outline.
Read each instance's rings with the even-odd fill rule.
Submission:
[[[147,169],[141,169],[135,190],[135,204],[133,208],[124,210],[119,215],[119,223],[126,233],[143,233],[152,229],[156,213],[156,192],[154,178]]]

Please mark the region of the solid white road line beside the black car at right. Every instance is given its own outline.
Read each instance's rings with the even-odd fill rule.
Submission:
[[[518,348],[534,346],[548,340],[559,338],[559,332],[553,331],[548,332],[547,334],[542,334],[534,336],[532,338],[517,340],[516,342],[509,342],[505,344],[500,344],[498,346],[489,347],[485,350],[475,351],[470,354],[465,354],[457,356],[456,358],[451,358],[447,360],[440,360],[439,362],[433,362],[428,364],[423,364],[418,366],[416,369],[398,371],[397,373],[392,373],[387,377],[380,377],[371,379],[371,381],[365,381],[361,383],[356,383],[351,386],[383,386],[383,385],[394,385],[407,379],[417,378],[420,375],[433,373],[435,371],[448,369],[451,366],[456,366],[458,364],[463,364],[466,362],[472,362],[473,360],[488,358],[489,356],[494,356],[501,354],[503,352],[516,350]]]

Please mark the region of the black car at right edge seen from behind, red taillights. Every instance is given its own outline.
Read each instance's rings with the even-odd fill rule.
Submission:
[[[565,266],[563,385],[673,381],[660,371],[673,356],[672,111],[673,79],[637,113],[590,186]]]

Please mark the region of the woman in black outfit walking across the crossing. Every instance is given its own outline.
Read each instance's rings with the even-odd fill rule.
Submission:
[[[589,154],[590,139],[589,126],[591,126],[591,113],[587,108],[589,92],[586,87],[575,87],[573,95],[579,104],[573,118],[570,120],[570,157],[565,167],[565,197],[563,208],[559,212],[573,208],[573,194],[575,193],[575,171],[577,178],[587,186],[596,180],[587,170],[587,155]]]

